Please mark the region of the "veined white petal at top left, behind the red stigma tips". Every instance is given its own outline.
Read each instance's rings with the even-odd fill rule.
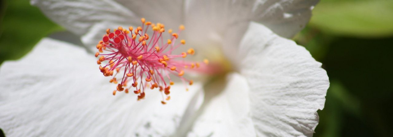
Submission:
[[[141,24],[140,17],[112,0],[31,0],[31,4],[76,35],[83,36],[95,31],[89,34],[97,35],[95,39],[82,39],[88,47],[94,47],[106,34],[107,28],[114,29],[121,25],[128,28],[132,24]]]

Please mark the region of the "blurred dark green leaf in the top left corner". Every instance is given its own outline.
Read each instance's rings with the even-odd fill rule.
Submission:
[[[7,0],[2,12],[0,63],[22,57],[42,37],[63,30],[46,18],[37,7],[31,6],[29,0]]]

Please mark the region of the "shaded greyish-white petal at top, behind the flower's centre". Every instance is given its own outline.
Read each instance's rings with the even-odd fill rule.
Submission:
[[[224,55],[236,60],[233,53],[237,53],[250,21],[264,24],[276,34],[290,38],[304,28],[318,1],[189,0],[185,3],[185,24],[187,31],[192,33],[187,33],[187,40],[201,49],[221,45]]]

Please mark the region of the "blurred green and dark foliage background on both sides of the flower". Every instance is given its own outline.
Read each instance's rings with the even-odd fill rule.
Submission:
[[[0,63],[64,31],[28,0],[1,1],[0,22]],[[294,40],[331,81],[314,137],[393,136],[393,0],[321,0]]]

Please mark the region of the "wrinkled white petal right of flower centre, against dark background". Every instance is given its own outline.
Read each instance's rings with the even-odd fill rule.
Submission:
[[[292,40],[251,23],[240,46],[258,136],[312,136],[329,87],[326,71]]]

